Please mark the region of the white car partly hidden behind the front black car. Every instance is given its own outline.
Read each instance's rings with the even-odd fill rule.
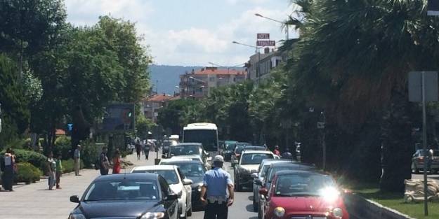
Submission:
[[[134,167],[131,173],[159,174],[168,182],[169,187],[178,195],[178,213],[180,218],[192,216],[192,181],[185,178],[181,170],[175,165],[155,165]]]

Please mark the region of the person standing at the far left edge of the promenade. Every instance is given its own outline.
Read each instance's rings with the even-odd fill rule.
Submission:
[[[13,181],[15,174],[15,156],[13,155],[13,150],[8,148],[6,153],[0,160],[1,166],[1,183],[4,190],[13,192]]]

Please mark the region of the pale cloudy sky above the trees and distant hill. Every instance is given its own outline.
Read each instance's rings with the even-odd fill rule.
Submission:
[[[100,15],[136,22],[154,64],[235,66],[247,62],[256,33],[285,38],[281,24],[256,17],[259,13],[286,20],[294,10],[289,0],[65,0],[67,21],[96,24]],[[289,38],[298,34],[290,28]]]

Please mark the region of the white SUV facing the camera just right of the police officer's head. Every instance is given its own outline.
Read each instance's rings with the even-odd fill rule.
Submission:
[[[245,150],[240,156],[240,161],[235,161],[235,189],[240,192],[244,186],[253,186],[251,174],[258,171],[262,160],[274,158],[270,151]]]

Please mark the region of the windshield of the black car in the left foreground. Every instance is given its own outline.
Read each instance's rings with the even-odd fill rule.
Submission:
[[[108,200],[157,200],[155,181],[98,181],[86,192],[84,202]]]

